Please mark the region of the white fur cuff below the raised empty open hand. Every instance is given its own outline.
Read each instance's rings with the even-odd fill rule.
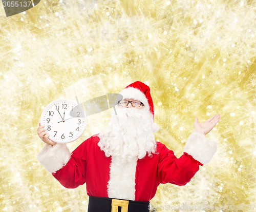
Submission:
[[[184,152],[187,152],[202,164],[209,163],[216,151],[217,142],[208,140],[205,138],[204,134],[197,132],[190,134],[184,147]]]

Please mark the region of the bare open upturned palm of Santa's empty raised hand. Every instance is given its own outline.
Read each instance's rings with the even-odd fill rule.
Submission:
[[[209,118],[203,123],[198,123],[198,118],[195,118],[195,132],[207,134],[214,126],[220,121],[220,115],[216,114],[213,117]]]

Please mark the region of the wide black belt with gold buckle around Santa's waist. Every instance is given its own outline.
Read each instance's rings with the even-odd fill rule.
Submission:
[[[89,197],[88,212],[149,212],[150,202]]]

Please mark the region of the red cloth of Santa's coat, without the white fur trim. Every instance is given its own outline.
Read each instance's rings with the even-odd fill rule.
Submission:
[[[97,145],[98,136],[93,136],[79,145],[71,159],[52,175],[65,187],[76,188],[86,183],[87,194],[108,197],[111,157]],[[157,153],[137,160],[135,174],[135,201],[150,201],[160,183],[185,185],[203,165],[186,152],[177,159],[172,150],[157,142]]]

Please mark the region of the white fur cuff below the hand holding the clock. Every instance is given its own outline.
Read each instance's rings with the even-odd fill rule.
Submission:
[[[55,172],[65,166],[71,157],[71,153],[66,144],[56,144],[46,146],[39,152],[37,158],[39,162],[49,172]]]

